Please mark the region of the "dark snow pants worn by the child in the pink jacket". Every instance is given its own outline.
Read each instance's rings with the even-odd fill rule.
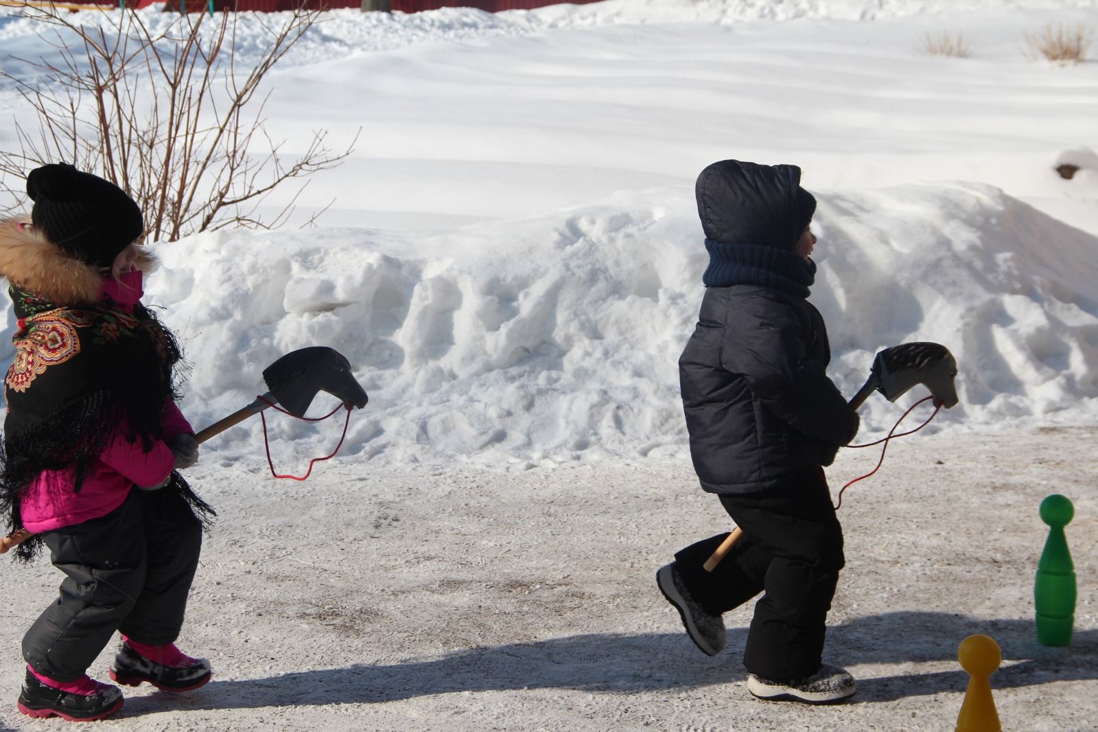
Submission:
[[[202,525],[171,490],[134,488],[107,515],[45,535],[67,577],[23,637],[23,658],[58,681],[80,678],[120,631],[172,643],[198,568]]]

